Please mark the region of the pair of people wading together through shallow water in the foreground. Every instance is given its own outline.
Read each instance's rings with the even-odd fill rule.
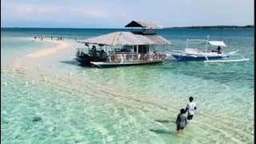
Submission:
[[[190,122],[193,119],[193,116],[195,114],[195,110],[197,110],[197,105],[195,102],[193,102],[194,98],[189,98],[190,102],[187,103],[186,109],[181,109],[180,114],[178,114],[176,119],[176,126],[178,133],[181,133],[182,130],[186,127],[186,124]],[[186,116],[187,112],[187,116]]]

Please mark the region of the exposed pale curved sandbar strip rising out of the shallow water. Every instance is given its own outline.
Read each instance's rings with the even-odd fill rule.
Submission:
[[[58,50],[63,50],[66,49],[70,46],[70,43],[68,42],[64,42],[64,41],[51,41],[51,40],[43,40],[44,42],[53,42],[55,44],[57,44],[56,46],[52,46],[50,48],[46,48],[45,50],[39,50],[30,54],[26,54],[26,56],[30,57],[30,58],[42,58],[44,56],[50,55],[50,54],[54,54],[56,53]]]

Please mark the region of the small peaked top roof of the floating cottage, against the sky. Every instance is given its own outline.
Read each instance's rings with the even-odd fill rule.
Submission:
[[[128,23],[125,27],[150,27],[150,28],[160,28],[158,22],[154,21],[132,21]]]

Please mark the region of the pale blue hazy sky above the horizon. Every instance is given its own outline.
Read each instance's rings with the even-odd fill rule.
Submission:
[[[1,27],[122,28],[254,25],[254,0],[1,0]]]

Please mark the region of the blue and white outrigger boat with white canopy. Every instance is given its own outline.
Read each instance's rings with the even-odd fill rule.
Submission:
[[[206,44],[205,49],[191,48],[188,46],[189,42],[203,42]],[[208,44],[211,46],[218,46],[218,50],[210,50]],[[221,51],[221,47],[226,44],[223,41],[209,41],[209,36],[204,39],[187,39],[185,50],[172,50],[171,55],[178,62],[183,61],[203,61],[203,62],[242,62],[249,61],[249,58],[244,58],[241,54],[237,54],[239,50],[230,53]],[[238,56],[238,59],[232,59],[231,56]]]

